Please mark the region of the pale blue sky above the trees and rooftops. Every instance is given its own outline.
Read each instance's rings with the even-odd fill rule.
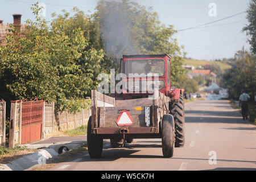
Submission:
[[[51,20],[52,13],[61,14],[61,10],[70,11],[74,6],[87,14],[92,14],[98,0],[0,0],[0,19],[3,23],[13,23],[12,14],[22,14],[22,23],[26,19],[34,20],[30,7],[35,2],[46,5],[44,18]],[[246,13],[242,12],[247,10],[250,0],[135,0],[135,2],[152,7],[153,11],[158,13],[160,22],[166,26],[173,25],[175,30],[199,26],[178,31],[175,35],[180,46],[184,46],[186,57],[215,60],[234,57],[234,53],[243,46],[245,50],[250,49],[246,32],[242,32],[242,28],[248,24]],[[225,19],[228,16],[232,17]],[[216,20],[219,21],[214,22]],[[209,24],[200,26],[205,23]]]

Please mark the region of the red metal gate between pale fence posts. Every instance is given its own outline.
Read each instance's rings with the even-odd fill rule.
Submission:
[[[42,138],[44,101],[22,102],[21,144]]]

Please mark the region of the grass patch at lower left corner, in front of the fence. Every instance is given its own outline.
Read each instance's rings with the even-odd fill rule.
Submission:
[[[35,151],[38,150],[26,146],[15,146],[13,148],[0,146],[0,163],[6,164],[11,160],[17,159],[23,155],[31,154]]]

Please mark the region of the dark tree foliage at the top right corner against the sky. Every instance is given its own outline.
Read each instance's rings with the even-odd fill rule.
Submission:
[[[251,51],[256,54],[256,0],[251,0],[246,18],[249,24],[243,28],[243,31],[250,36],[248,41],[251,44]]]

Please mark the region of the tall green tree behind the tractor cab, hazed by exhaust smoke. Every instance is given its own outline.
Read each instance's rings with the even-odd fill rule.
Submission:
[[[184,52],[174,38],[173,26],[164,26],[152,8],[123,0],[98,2],[93,19],[100,29],[102,44],[115,63],[125,54],[163,54],[172,57],[172,84],[183,73]]]

